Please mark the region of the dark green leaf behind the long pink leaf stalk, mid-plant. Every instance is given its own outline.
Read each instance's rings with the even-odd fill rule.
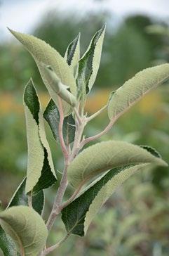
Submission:
[[[43,117],[48,122],[55,140],[59,142],[58,127],[60,122],[60,113],[52,99],[49,101],[46,110],[43,113]],[[72,115],[65,117],[63,122],[63,138],[67,145],[74,141],[75,130],[75,121]]]

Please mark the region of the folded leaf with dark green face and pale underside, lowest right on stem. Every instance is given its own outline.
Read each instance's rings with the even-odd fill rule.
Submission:
[[[104,153],[103,153],[104,154]],[[68,233],[84,236],[100,207],[126,179],[149,164],[111,169],[84,193],[62,210],[62,221]]]

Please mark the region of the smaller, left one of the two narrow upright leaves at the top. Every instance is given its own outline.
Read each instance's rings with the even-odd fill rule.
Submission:
[[[72,68],[74,72],[74,77],[76,77],[76,72],[79,67],[80,59],[80,33],[78,36],[69,44],[67,51],[65,53],[65,59],[67,64]]]

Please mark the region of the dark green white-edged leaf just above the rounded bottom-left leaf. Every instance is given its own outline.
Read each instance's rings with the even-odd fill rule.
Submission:
[[[18,205],[28,206],[28,196],[25,192],[25,185],[26,185],[26,178],[23,179],[20,186],[18,186],[7,208],[12,206],[18,206]],[[32,196],[32,206],[34,210],[36,210],[36,212],[39,213],[39,215],[41,215],[41,212],[43,211],[44,200],[45,198],[44,198],[43,191],[39,191],[39,193],[37,193],[35,196]]]

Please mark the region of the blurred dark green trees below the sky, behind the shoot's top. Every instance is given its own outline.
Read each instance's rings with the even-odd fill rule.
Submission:
[[[62,15],[51,11],[43,16],[36,25],[33,34],[57,49],[64,56],[67,45],[81,32],[81,55],[86,51],[90,38],[95,31],[107,23],[100,72],[95,84],[97,87],[119,87],[136,72],[151,66],[156,56],[156,49],[162,47],[160,35],[149,35],[145,27],[152,24],[147,16],[137,15],[126,18],[114,26],[115,18],[108,11],[88,13],[87,16],[74,16],[71,12]],[[15,39],[0,45],[1,88],[15,91],[34,78],[39,88],[41,77],[34,60]]]

